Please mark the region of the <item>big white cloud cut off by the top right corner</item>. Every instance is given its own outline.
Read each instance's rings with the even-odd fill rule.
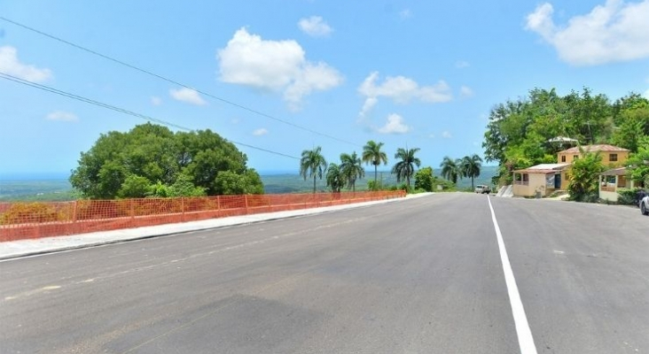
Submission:
[[[590,13],[557,26],[551,4],[528,14],[526,29],[541,35],[571,65],[600,65],[649,58],[649,0],[606,0]]]

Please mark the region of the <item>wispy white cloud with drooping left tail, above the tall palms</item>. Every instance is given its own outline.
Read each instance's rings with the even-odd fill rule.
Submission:
[[[438,81],[434,86],[419,86],[417,81],[404,76],[388,76],[383,83],[377,85],[378,78],[379,73],[370,73],[358,88],[358,92],[366,97],[363,109],[359,113],[362,117],[377,104],[381,96],[390,98],[397,104],[407,104],[411,100],[442,103],[453,98],[449,85],[444,81]]]

